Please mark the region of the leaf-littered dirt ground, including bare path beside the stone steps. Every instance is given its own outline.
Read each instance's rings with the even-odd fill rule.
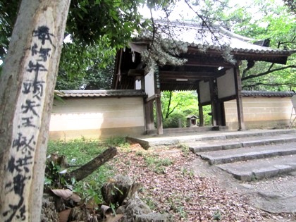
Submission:
[[[147,156],[170,159],[173,164],[156,173]],[[294,175],[241,183],[180,147],[144,150],[138,144],[129,152],[119,149],[111,165],[118,174],[142,183],[139,197],[153,206],[153,211],[172,215],[173,221],[296,221],[291,211],[281,211],[284,206],[295,207],[291,199]]]

